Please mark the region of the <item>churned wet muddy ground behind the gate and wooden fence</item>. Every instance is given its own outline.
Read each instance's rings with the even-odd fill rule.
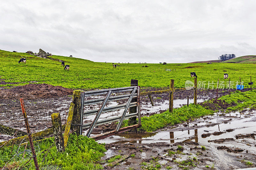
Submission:
[[[4,84],[4,81],[1,82]],[[73,90],[74,89],[63,88],[61,86],[52,86],[49,84],[27,84],[24,86],[16,86],[8,89],[0,88],[0,124],[12,128],[25,129],[19,100],[20,98],[24,99],[25,109],[27,111],[28,120],[32,132],[51,128],[52,113],[59,112],[62,118],[62,123],[65,123],[65,118],[68,114],[69,105],[72,101]],[[156,90],[160,89],[142,88],[142,91]],[[197,94],[197,99],[199,101],[200,99],[206,100],[215,97],[216,90],[198,90]],[[228,91],[219,91],[219,96],[226,94],[228,94]],[[190,102],[192,102],[193,90],[175,92],[174,100],[186,99],[187,96],[189,96]],[[168,109],[168,93],[153,95],[153,100],[155,103],[154,108],[151,107],[151,103],[147,96],[141,97],[140,101],[142,115],[148,116],[151,114],[163,112]],[[178,101],[176,107],[180,105],[179,102],[180,101]],[[164,103],[165,107],[163,107]],[[184,100],[183,103],[186,104],[187,102]],[[108,117],[113,115],[116,115],[116,113],[113,112],[112,114],[107,114],[106,116]],[[89,117],[89,119],[87,119],[87,121],[90,122],[90,120],[92,120],[93,118],[94,117],[91,116]],[[86,121],[86,118],[84,120]],[[113,130],[115,126],[116,125],[106,125],[99,128],[96,127],[97,129],[95,129],[94,132],[105,132],[108,130]],[[1,138],[3,137],[0,136],[0,139]]]

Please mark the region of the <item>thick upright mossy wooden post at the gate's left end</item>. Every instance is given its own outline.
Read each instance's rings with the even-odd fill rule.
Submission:
[[[71,122],[71,129],[72,129],[72,131],[76,132],[76,135],[79,135],[79,131],[80,131],[81,91],[82,90],[74,90],[73,91],[72,103],[74,103],[74,112],[73,112],[73,118],[72,118],[72,122]]]

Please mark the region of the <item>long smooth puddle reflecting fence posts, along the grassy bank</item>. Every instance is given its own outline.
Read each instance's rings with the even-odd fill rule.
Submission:
[[[238,117],[238,115],[236,114],[237,112],[230,113],[230,115],[235,115]],[[206,123],[207,124],[209,123],[209,122],[202,122],[202,123],[197,123],[197,126],[195,126],[194,129],[190,129],[190,130],[179,131],[179,127],[178,127],[174,129],[172,128],[164,129],[163,131],[160,131],[158,133],[120,134],[120,135],[113,136],[114,141],[112,141],[112,139],[110,140],[106,138],[106,139],[100,140],[99,142],[100,143],[113,143],[113,142],[114,143],[120,143],[120,142],[131,143],[131,141],[133,141],[136,143],[156,143],[156,142],[176,143],[176,142],[184,142],[184,141],[193,141],[203,145],[205,144],[221,145],[218,143],[208,143],[208,140],[216,140],[221,138],[234,138],[235,135],[237,134],[250,134],[255,132],[255,129],[256,129],[255,121],[251,121],[255,119],[255,112],[251,114],[254,114],[254,115],[252,115],[251,117],[245,117],[243,119],[240,118],[240,114],[239,114],[239,118],[233,121],[231,121],[229,118],[217,119],[217,114],[216,114],[215,116],[212,116],[213,119],[211,120],[211,123],[213,124],[213,126],[210,126],[210,127],[201,126],[201,125],[205,125]],[[214,123],[220,123],[220,124],[214,125]],[[194,124],[191,124],[191,126],[192,125]],[[235,129],[235,130],[232,132],[226,132],[227,129]],[[213,132],[225,132],[225,133],[218,134],[218,135],[210,135],[209,137],[205,137],[205,138],[202,137],[202,134],[213,133]],[[225,145],[228,147],[234,147],[234,144],[225,143]],[[242,143],[240,143],[239,147],[241,149],[248,148],[247,145],[244,145]],[[255,148],[253,150],[256,151]]]

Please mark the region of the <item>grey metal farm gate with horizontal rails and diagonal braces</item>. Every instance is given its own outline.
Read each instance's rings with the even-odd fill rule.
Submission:
[[[119,95],[116,94],[116,96],[111,96],[113,93],[121,93],[121,92],[130,92],[130,94],[124,94],[124,95]],[[98,96],[98,95],[106,95],[105,98],[99,98],[99,99],[91,99],[91,100],[84,100],[85,97],[90,97],[90,96]],[[132,102],[132,98],[137,98],[137,102]],[[117,101],[117,100],[123,100],[123,99],[128,99],[126,104],[118,104],[115,106],[110,106],[110,107],[105,107],[107,102],[109,101]],[[102,103],[99,109],[94,109],[94,110],[89,110],[84,112],[84,106],[85,105],[91,105],[91,104],[99,104]],[[130,113],[126,114],[127,110],[129,107],[134,107],[137,106],[137,111],[136,113]],[[94,91],[85,91],[81,93],[81,118],[80,118],[80,128],[79,128],[79,135],[82,135],[83,130],[89,128],[87,131],[86,136],[90,137],[92,130],[95,126],[98,125],[103,125],[106,123],[111,123],[119,120],[119,123],[116,127],[116,130],[110,131],[104,134],[100,135],[95,135],[92,136],[95,140],[99,140],[117,133],[122,133],[134,128],[139,128],[141,126],[141,121],[140,121],[140,86],[132,86],[132,87],[123,87],[123,88],[114,88],[114,89],[102,89],[102,90],[94,90]],[[100,114],[103,112],[110,112],[110,111],[115,111],[115,110],[120,110],[124,109],[122,116],[116,116],[104,120],[99,120]],[[94,115],[96,114],[93,122],[90,123],[85,123],[83,124],[83,117],[84,116],[89,116],[89,115]],[[121,128],[121,125],[124,121],[124,119],[128,118],[133,118],[138,116],[138,124],[128,126],[125,128]]]

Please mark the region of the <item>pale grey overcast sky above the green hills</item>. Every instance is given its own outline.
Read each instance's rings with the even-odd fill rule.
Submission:
[[[255,0],[2,1],[0,49],[97,62],[256,54]]]

